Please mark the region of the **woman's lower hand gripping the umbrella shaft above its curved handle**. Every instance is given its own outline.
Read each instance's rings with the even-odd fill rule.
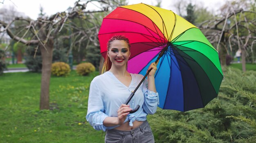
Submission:
[[[117,110],[117,124],[121,125],[124,124],[124,121],[129,114],[129,112],[132,111],[132,108],[130,108],[130,105],[122,104],[119,109]]]

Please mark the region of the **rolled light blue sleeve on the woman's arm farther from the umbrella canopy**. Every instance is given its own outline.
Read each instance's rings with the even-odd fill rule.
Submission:
[[[97,85],[92,80],[88,98],[88,111],[86,120],[95,130],[106,131],[106,126],[103,125],[103,121],[108,115],[103,113],[104,106],[101,98],[101,92]]]

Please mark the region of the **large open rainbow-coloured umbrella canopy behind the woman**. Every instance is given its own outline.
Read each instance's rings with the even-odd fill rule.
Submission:
[[[99,30],[103,56],[113,35],[130,40],[128,72],[145,75],[159,60],[160,108],[189,111],[217,97],[223,78],[218,52],[199,28],[173,11],[143,3],[119,6],[103,18]]]

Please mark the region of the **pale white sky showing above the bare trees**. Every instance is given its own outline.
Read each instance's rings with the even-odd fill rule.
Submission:
[[[207,7],[210,11],[217,11],[226,0],[187,0],[193,4]],[[43,7],[46,15],[50,16],[57,12],[66,11],[68,7],[74,6],[76,0],[0,0],[0,8],[15,7],[18,12],[22,12],[31,19],[36,20],[40,13],[40,5]],[[128,4],[145,3],[155,5],[156,0],[128,0]],[[177,9],[173,7],[176,0],[162,0],[161,7],[172,10],[177,13]]]

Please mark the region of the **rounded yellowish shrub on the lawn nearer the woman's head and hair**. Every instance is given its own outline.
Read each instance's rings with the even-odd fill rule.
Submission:
[[[81,63],[76,66],[76,72],[81,76],[86,76],[94,71],[95,67],[94,65],[92,65],[92,63]]]

